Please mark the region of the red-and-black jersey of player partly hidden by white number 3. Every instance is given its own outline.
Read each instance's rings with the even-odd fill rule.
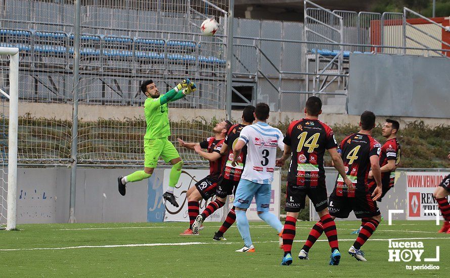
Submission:
[[[231,165],[233,161],[233,147],[238,142],[239,135],[241,134],[242,128],[246,125],[244,124],[235,124],[228,130],[228,134],[225,137],[224,144],[228,146],[228,160],[225,163],[223,168],[223,178],[229,180],[238,181],[241,179],[242,169],[244,169],[245,159],[247,157],[247,145],[242,148],[241,153],[239,154],[238,160],[236,161],[236,167]]]

